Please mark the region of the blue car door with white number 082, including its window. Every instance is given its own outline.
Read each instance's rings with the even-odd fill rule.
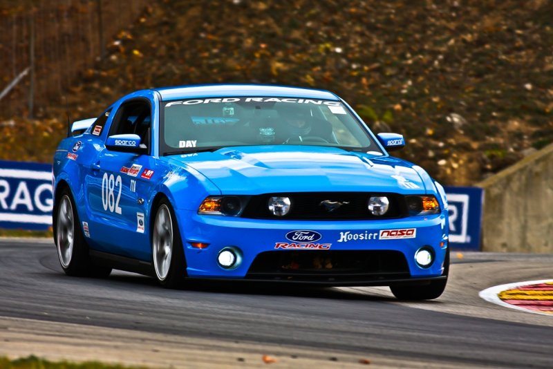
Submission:
[[[144,197],[138,189],[150,189],[151,156],[149,124],[151,104],[146,99],[133,99],[120,105],[109,128],[110,135],[139,134],[147,153],[125,152],[121,149],[102,147],[93,163],[95,185],[89,189],[90,208],[97,228],[94,240],[102,251],[120,256],[149,260],[149,233],[147,232]],[[140,131],[142,130],[142,131]],[[144,189],[144,183],[148,187]],[[93,230],[91,229],[91,232]]]

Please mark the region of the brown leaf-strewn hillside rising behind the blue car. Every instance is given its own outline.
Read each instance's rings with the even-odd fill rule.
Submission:
[[[325,88],[373,130],[406,135],[403,158],[467,185],[553,141],[552,15],[547,0],[157,1],[68,105],[77,119],[150,86]],[[65,110],[58,98],[41,108],[50,132],[31,149],[4,122],[0,143],[17,147],[1,155],[50,160]]]

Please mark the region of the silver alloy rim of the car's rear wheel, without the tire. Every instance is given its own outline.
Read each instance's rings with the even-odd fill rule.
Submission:
[[[56,226],[57,254],[62,267],[67,269],[73,256],[73,243],[75,240],[75,220],[73,218],[73,206],[69,196],[64,195],[59,201]]]

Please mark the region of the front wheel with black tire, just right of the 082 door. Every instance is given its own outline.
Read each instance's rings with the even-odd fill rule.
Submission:
[[[158,202],[152,223],[153,275],[162,287],[180,289],[186,281],[185,252],[175,212],[166,198]]]

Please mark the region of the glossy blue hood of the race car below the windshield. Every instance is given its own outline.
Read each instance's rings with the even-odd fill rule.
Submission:
[[[239,146],[174,155],[171,160],[198,171],[223,194],[426,192],[422,169],[409,162],[335,147]]]

